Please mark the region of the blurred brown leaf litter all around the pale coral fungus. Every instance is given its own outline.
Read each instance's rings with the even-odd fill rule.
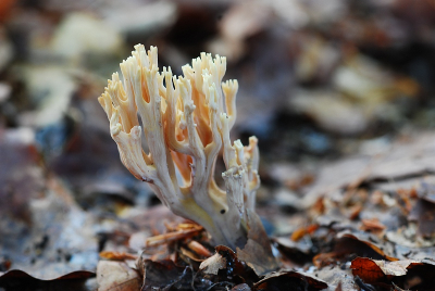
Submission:
[[[433,5],[90,2],[0,4],[0,289],[433,289]],[[174,67],[227,55],[243,84],[269,225],[244,249],[211,245],[119,162],[96,94],[138,39]]]

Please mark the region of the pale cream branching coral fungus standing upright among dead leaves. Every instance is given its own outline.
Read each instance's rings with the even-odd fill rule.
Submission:
[[[222,83],[226,59],[201,53],[183,66],[183,76],[173,76],[170,67],[159,72],[156,47],[147,52],[137,45],[132,54],[121,63],[123,81],[113,74],[98,99],[122,163],[171,211],[202,225],[214,243],[244,248],[260,185],[259,151],[256,137],[248,147],[231,143],[238,83]],[[214,180],[221,149],[225,190]]]

